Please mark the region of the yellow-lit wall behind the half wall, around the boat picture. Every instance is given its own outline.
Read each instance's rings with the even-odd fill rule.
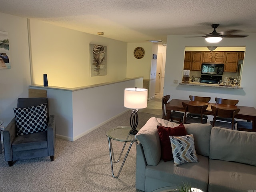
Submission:
[[[32,84],[74,88],[126,78],[127,43],[30,20]],[[90,77],[90,44],[107,46],[107,75]]]

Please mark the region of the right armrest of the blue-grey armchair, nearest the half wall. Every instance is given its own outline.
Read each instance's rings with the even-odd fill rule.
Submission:
[[[48,142],[48,152],[49,156],[54,156],[55,148],[55,116],[50,115],[48,127],[47,127],[47,142]]]

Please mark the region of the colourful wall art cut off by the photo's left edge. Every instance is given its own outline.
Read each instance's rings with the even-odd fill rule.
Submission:
[[[0,69],[10,69],[8,33],[0,31]]]

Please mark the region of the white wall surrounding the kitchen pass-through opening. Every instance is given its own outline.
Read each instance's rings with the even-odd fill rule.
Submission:
[[[171,98],[186,99],[189,95],[211,96],[210,102],[215,102],[215,97],[238,99],[238,105],[256,107],[256,34],[250,34],[246,38],[224,38],[217,46],[245,46],[244,66],[242,81],[240,86],[242,90],[211,88],[200,86],[186,86],[174,84],[173,80],[182,81],[182,69],[184,64],[185,47],[212,46],[204,38],[184,38],[184,36],[168,36],[166,50],[166,68],[164,80],[164,95],[171,94]]]

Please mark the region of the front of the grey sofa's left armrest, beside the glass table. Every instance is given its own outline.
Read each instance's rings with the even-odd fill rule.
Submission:
[[[145,170],[147,162],[144,156],[142,144],[136,145],[136,189],[145,191]]]

